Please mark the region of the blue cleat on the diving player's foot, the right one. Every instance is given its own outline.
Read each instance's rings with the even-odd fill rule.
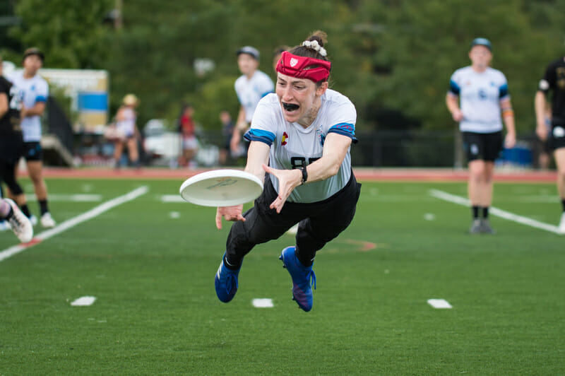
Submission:
[[[296,247],[286,247],[280,254],[279,259],[283,260],[283,266],[292,278],[292,300],[296,300],[298,306],[308,312],[314,304],[312,286],[315,290],[316,274],[314,274],[312,266],[302,266],[295,251]]]

